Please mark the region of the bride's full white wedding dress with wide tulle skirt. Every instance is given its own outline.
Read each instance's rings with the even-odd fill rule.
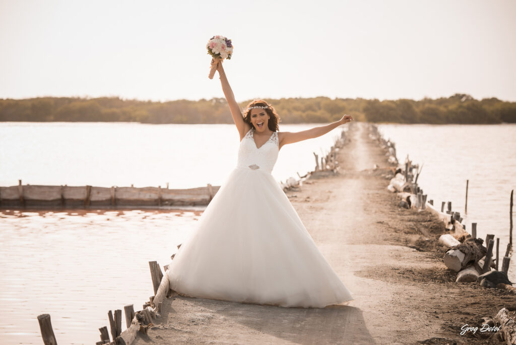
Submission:
[[[237,166],[171,260],[170,288],[190,297],[283,307],[353,300],[271,175],[278,133],[258,148],[253,132],[241,140]]]

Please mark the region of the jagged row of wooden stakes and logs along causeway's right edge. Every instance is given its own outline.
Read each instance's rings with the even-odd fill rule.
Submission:
[[[376,127],[376,126],[373,126]],[[395,150],[390,150],[392,143],[381,139],[378,131],[373,130],[373,137],[378,139],[379,144],[386,149],[386,155],[390,155]],[[392,145],[394,147],[394,145]],[[389,159],[389,162],[394,160]],[[403,169],[405,168],[405,169]],[[422,167],[421,167],[422,168]],[[391,179],[388,190],[397,192],[401,198],[400,207],[416,208],[418,211],[426,210],[436,215],[444,222],[446,228],[452,233],[443,234],[439,238],[439,243],[448,248],[444,254],[443,261],[448,269],[458,272],[457,282],[473,282],[479,283],[480,286],[487,288],[498,288],[516,294],[516,288],[512,287],[512,283],[507,277],[510,262],[510,252],[512,247],[512,206],[513,192],[510,199],[510,241],[503,257],[502,268],[499,269],[499,238],[496,239],[496,259],[493,262],[494,234],[488,234],[486,237],[487,248],[482,245],[483,240],[476,236],[477,224],[472,223],[472,234],[465,230],[462,224],[463,218],[459,212],[451,210],[451,201],[442,202],[441,210],[433,205],[433,200],[426,201],[427,195],[423,194],[423,190],[417,186],[417,177],[421,173],[418,165],[413,165],[408,159],[405,167],[398,166],[395,170],[395,177]],[[415,180],[414,180],[415,176]],[[467,202],[467,187],[466,187]],[[467,203],[466,203],[467,205]],[[444,208],[447,206],[447,210]],[[461,242],[462,241],[462,242]],[[491,269],[494,270],[491,270]],[[501,332],[498,333],[503,341],[508,345],[516,344],[516,320],[509,315],[507,308],[500,309],[493,318],[485,317],[483,323],[490,326],[499,325]]]

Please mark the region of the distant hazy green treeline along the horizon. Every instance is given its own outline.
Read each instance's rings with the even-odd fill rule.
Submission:
[[[282,123],[333,122],[343,114],[359,121],[397,123],[516,123],[516,102],[476,100],[456,93],[414,101],[362,98],[266,99]],[[249,101],[240,103],[244,108]],[[232,123],[225,99],[151,102],[103,98],[0,99],[0,121],[124,121],[142,123]]]

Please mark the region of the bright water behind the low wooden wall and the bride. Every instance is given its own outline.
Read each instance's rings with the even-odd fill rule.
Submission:
[[[280,124],[302,131],[317,124]],[[285,145],[272,175],[304,175],[347,126]],[[0,185],[220,185],[236,166],[240,138],[234,124],[0,122]]]

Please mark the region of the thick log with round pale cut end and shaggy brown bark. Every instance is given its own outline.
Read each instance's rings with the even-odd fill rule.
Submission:
[[[487,248],[482,243],[482,239],[469,238],[463,243],[449,247],[443,257],[444,264],[450,270],[459,272],[486,255]]]

